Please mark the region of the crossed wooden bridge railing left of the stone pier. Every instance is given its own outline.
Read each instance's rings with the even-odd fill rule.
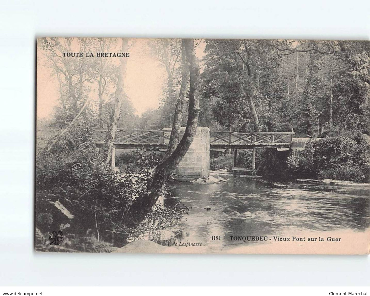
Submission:
[[[96,143],[103,143],[107,137],[107,128],[92,128],[93,139]],[[117,128],[115,133],[116,144],[164,144],[169,140],[168,132],[158,130],[135,130]]]

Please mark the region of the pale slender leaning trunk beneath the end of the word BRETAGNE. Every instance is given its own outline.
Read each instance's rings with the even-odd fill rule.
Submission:
[[[122,38],[122,51],[121,52],[127,52],[127,38]],[[125,79],[125,74],[126,74],[126,66],[127,66],[127,59],[122,57],[120,70],[118,72],[118,81],[117,81],[117,89],[115,92],[114,110],[110,118],[111,120],[110,120],[110,125],[108,126],[107,137],[105,138],[104,145],[103,145],[104,158],[105,158],[106,165],[109,164],[109,162],[111,161],[115,133],[117,131],[118,121],[120,120],[120,116],[121,116],[121,106],[122,106],[122,100],[123,100],[123,87],[124,87],[124,79]]]

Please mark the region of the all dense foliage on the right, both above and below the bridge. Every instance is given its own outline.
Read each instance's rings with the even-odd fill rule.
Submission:
[[[289,158],[257,149],[260,175],[368,182],[370,42],[212,39],[203,60],[202,125],[324,138]],[[251,158],[238,151],[237,165]]]

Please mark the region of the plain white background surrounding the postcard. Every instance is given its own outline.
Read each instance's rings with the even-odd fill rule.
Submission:
[[[33,252],[36,37],[369,39],[370,1],[0,3],[0,285],[370,285],[369,256]]]

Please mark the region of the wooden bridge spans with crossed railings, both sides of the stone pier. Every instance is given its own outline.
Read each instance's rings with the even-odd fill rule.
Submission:
[[[106,128],[92,128],[93,138],[100,148],[107,136]],[[166,149],[169,142],[168,130],[135,130],[118,128],[115,146],[118,149],[145,148],[148,150]],[[290,148],[294,132],[229,132],[210,131],[209,144],[212,148],[279,147]]]

